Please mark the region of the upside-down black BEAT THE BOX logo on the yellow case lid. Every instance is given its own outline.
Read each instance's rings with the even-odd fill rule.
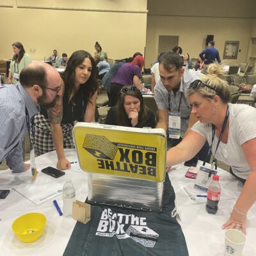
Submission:
[[[157,148],[113,143],[105,136],[86,134],[83,148],[97,159],[99,170],[139,173],[156,177]],[[118,159],[115,159],[117,152]]]

